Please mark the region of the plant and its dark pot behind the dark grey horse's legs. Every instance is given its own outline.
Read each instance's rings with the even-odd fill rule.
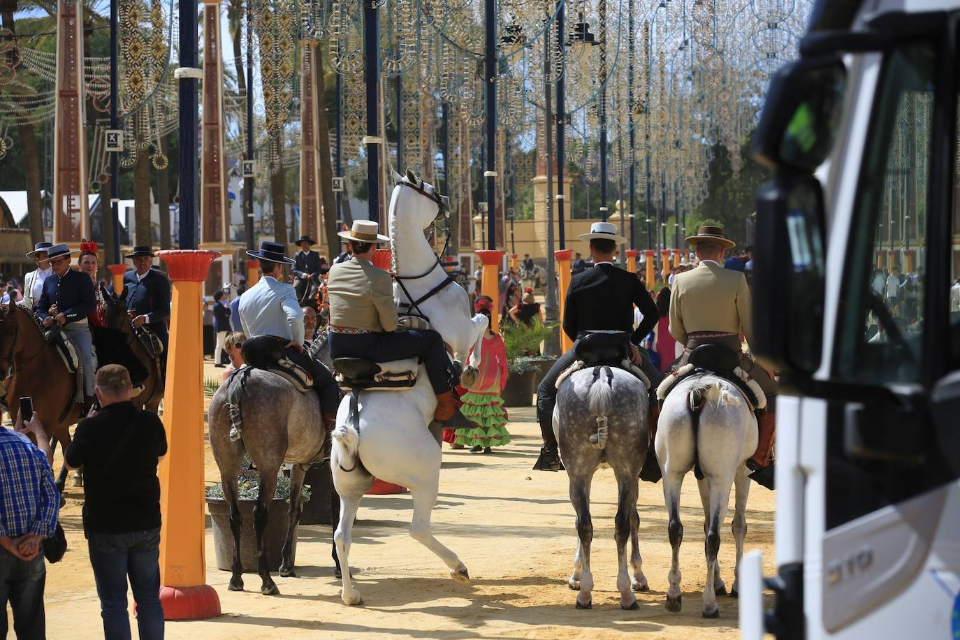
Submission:
[[[244,456],[241,469],[249,469],[250,458]],[[287,514],[290,505],[290,478],[281,475],[276,480],[276,493],[270,503],[267,531],[264,544],[267,548],[267,568],[276,571],[282,560],[281,552],[287,536]],[[238,504],[240,506],[240,563],[244,573],[256,573],[256,533],[253,531],[253,506],[260,490],[260,476],[255,470],[242,470],[237,474]],[[301,500],[310,499],[310,492],[304,486],[300,491]],[[206,509],[210,511],[213,524],[213,548],[217,568],[229,571],[233,563],[233,533],[230,532],[230,506],[224,498],[224,488],[220,483],[206,487]],[[297,533],[294,532],[294,557],[297,555]]]

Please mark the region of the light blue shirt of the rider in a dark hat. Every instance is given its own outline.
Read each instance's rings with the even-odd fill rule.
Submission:
[[[240,322],[244,333],[279,336],[303,344],[303,312],[293,285],[265,275],[240,296]]]

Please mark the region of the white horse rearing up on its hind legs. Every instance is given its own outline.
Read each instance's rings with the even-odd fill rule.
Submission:
[[[456,282],[450,281],[438,289],[448,276],[423,232],[444,213],[445,198],[409,169],[406,177],[395,174],[395,180],[389,223],[394,271],[398,278],[409,278],[401,281],[417,303],[414,311],[429,318],[456,358],[466,357],[470,347],[474,347],[462,376],[468,385],[470,379],[475,379],[480,364],[487,318],[479,314],[471,318],[467,292]],[[433,295],[420,299],[430,292]],[[395,286],[395,296],[398,303],[411,301],[399,285]],[[410,535],[444,560],[452,579],[469,581],[467,567],[460,558],[430,533],[430,514],[440,485],[441,450],[427,424],[436,407],[437,398],[422,365],[417,383],[409,391],[361,392],[359,433],[350,415],[350,398],[344,398],[340,405],[330,465],[341,499],[334,541],[343,571],[341,597],[345,604],[363,602],[350,581],[349,550],[360,498],[370,489],[374,477],[410,489],[414,501]]]

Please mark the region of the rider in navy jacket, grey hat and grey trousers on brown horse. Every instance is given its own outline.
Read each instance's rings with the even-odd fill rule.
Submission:
[[[77,345],[84,365],[85,408],[93,404],[95,367],[93,365],[93,341],[86,317],[94,310],[96,301],[93,281],[86,273],[70,269],[70,254],[75,253],[66,245],[54,245],[47,249],[47,260],[53,274],[43,281],[43,293],[36,304],[37,315],[43,326],[51,327],[56,322],[60,330]]]

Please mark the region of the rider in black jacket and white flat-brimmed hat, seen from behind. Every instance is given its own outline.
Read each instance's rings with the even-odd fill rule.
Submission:
[[[631,362],[643,367],[656,387],[659,372],[640,355],[639,344],[659,319],[657,304],[646,292],[636,275],[613,264],[616,246],[627,239],[617,235],[611,223],[593,223],[581,240],[590,243],[593,269],[578,273],[570,282],[564,305],[564,332],[570,340],[579,340],[590,331],[623,331],[630,335]],[[634,305],[643,314],[643,321],[634,329]],[[537,389],[537,419],[543,448],[534,465],[540,471],[559,471],[563,467],[553,433],[553,408],[557,404],[557,378],[576,360],[573,349],[557,359]]]

